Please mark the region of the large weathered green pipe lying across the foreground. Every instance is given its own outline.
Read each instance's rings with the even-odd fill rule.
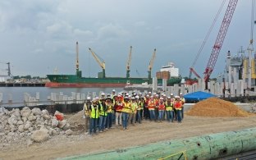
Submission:
[[[165,133],[168,134],[168,133]],[[170,133],[169,133],[170,134]],[[171,134],[170,134],[171,135]],[[125,139],[124,139],[125,140]],[[256,128],[186,139],[167,140],[128,149],[64,159],[213,159],[256,149]]]

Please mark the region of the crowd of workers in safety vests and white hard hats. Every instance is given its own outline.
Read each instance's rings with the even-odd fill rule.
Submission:
[[[126,92],[116,94],[113,89],[112,94],[102,93],[100,98],[87,97],[84,105],[85,131],[94,135],[111,129],[113,124],[127,130],[128,125],[134,126],[143,119],[181,123],[184,118],[184,103],[182,93],[179,96],[151,92],[145,95]]]

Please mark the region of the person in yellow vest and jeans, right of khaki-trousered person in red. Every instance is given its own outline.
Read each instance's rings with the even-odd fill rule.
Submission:
[[[129,98],[125,97],[125,99],[124,99],[124,106],[123,106],[123,108],[121,110],[123,130],[127,130],[128,129],[128,119],[129,119],[130,112],[131,112],[131,107],[130,107]]]

